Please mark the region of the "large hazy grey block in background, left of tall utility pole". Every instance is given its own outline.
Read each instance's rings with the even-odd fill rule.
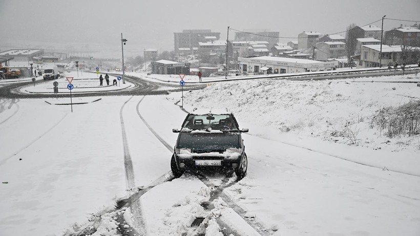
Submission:
[[[212,40],[219,40],[220,33],[211,30],[183,30],[181,33],[174,33],[174,49],[179,54],[179,49],[198,48],[199,42],[206,42],[211,37]],[[188,51],[188,50],[186,50]]]

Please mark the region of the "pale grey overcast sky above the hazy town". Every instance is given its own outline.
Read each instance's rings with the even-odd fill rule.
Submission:
[[[281,37],[303,31],[332,34],[354,23],[363,26],[383,15],[418,20],[420,0],[304,0],[304,1],[96,1],[0,0],[0,50],[48,45],[50,48],[116,50],[121,33],[128,54],[143,49],[174,50],[174,32],[210,29],[226,40],[227,27],[269,29]],[[384,30],[414,22],[385,20]],[[381,21],[373,24],[381,27]],[[234,38],[229,31],[229,39]],[[345,33],[342,33],[345,36]],[[280,39],[287,42],[297,39]],[[54,46],[51,46],[54,45]],[[133,55],[128,55],[133,56]]]

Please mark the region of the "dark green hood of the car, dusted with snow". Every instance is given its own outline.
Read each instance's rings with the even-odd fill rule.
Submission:
[[[179,133],[178,148],[198,150],[221,150],[228,147],[240,148],[241,134],[235,133]]]

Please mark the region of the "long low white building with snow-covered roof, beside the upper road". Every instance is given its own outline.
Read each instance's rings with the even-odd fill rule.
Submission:
[[[261,73],[260,69],[275,74],[300,73],[308,71],[331,71],[338,67],[338,61],[316,61],[289,57],[239,57],[239,68],[247,73]]]

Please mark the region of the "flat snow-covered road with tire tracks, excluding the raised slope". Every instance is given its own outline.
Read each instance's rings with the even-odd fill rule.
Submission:
[[[185,117],[165,96],[103,97],[74,106],[73,113],[43,99],[2,99],[0,105],[0,179],[7,182],[0,191],[0,234],[6,236],[60,234],[127,194],[121,120],[134,186],[161,179],[170,172],[172,153],[139,114],[169,145],[176,140],[172,128]],[[413,188],[420,178],[311,152],[299,142],[260,138],[254,124],[238,122],[250,128],[244,136],[248,175],[222,193],[246,210],[245,221],[261,224],[264,234],[420,232],[420,190]],[[329,152],[337,150],[330,145]],[[208,178],[214,186],[225,181],[223,175]],[[188,232],[210,211],[211,232],[219,232],[216,222],[249,227],[229,211],[230,203],[212,199],[211,189],[192,175],[153,187],[140,203],[150,235]],[[203,207],[207,204],[214,208]]]

